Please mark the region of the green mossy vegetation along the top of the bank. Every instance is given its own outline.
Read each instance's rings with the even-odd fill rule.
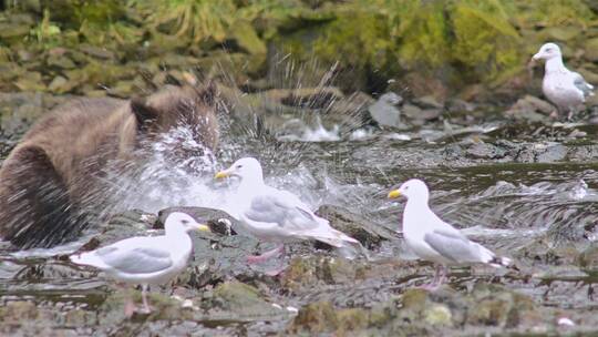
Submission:
[[[455,88],[508,81],[537,45],[548,39],[581,43],[574,38],[598,22],[584,0],[4,1],[0,28],[8,21],[29,31],[23,40],[20,27],[4,30],[6,48],[23,41],[34,50],[91,44],[121,64],[169,52],[209,58],[197,64],[225,55],[224,63],[239,60],[235,69],[250,76],[264,75],[268,55],[276,54],[318,60],[322,73],[332,64],[361,79],[415,72]],[[358,88],[367,89],[362,83]]]

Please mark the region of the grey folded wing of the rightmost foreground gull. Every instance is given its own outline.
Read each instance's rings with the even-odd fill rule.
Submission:
[[[461,233],[433,231],[424,235],[424,241],[434,251],[454,263],[481,262],[480,245]]]

